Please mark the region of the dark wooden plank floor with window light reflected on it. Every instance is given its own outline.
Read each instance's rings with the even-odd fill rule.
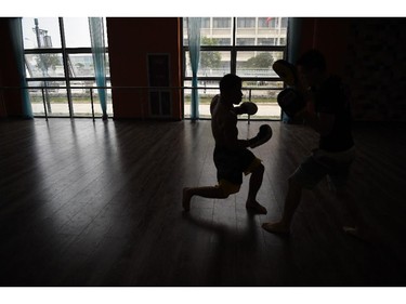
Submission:
[[[240,121],[240,137],[261,123]],[[267,123],[273,138],[254,151],[269,213],[250,215],[248,177],[239,194],[182,212],[184,186],[215,183],[210,121],[0,121],[0,286],[406,286],[406,127],[354,127],[363,242],[341,232],[325,183],[304,193],[290,238],[261,228],[317,142],[303,125]]]

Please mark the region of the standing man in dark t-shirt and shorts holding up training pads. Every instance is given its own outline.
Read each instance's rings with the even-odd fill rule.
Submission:
[[[337,197],[349,212],[344,230],[359,236],[359,215],[355,206],[349,203],[345,189],[350,166],[355,157],[352,116],[345,87],[339,77],[327,74],[325,57],[316,50],[305,52],[297,62],[297,68],[300,82],[298,87],[307,104],[301,110],[297,105],[292,105],[292,108],[296,117],[303,118],[319,134],[319,144],[289,177],[280,221],[264,223],[262,227],[270,233],[289,233],[302,189],[313,189],[322,179],[328,176]]]

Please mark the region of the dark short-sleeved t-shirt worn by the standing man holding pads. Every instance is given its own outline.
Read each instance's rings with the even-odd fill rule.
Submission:
[[[335,115],[335,124],[328,135],[320,136],[319,148],[343,151],[354,145],[352,115],[346,87],[337,76],[330,76],[320,88],[314,90],[316,113]]]

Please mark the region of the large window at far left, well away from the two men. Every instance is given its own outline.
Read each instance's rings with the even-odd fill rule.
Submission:
[[[104,23],[105,25],[105,23]],[[105,43],[107,45],[106,30]],[[23,18],[26,76],[36,117],[102,116],[87,17]],[[106,79],[109,85],[108,56]],[[107,90],[107,114],[113,115]],[[92,98],[93,97],[93,98]],[[94,106],[91,105],[91,100]]]

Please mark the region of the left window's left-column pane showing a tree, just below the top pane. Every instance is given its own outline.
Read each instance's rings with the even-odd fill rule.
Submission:
[[[65,77],[61,53],[26,54],[25,61],[27,78]]]

